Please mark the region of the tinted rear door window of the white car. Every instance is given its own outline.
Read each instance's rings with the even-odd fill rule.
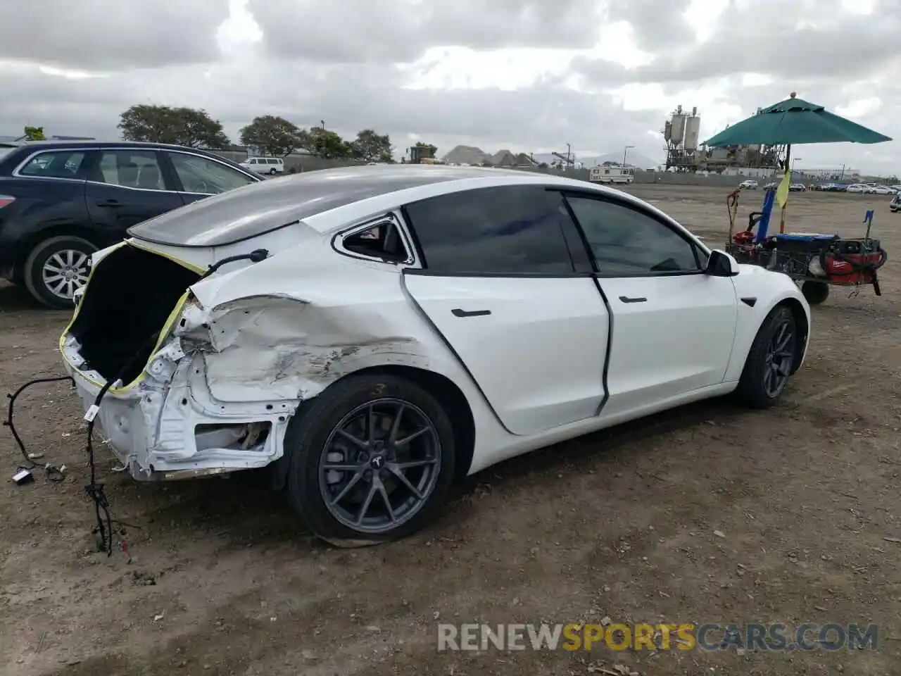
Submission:
[[[414,202],[406,213],[432,271],[573,271],[562,230],[569,215],[560,194],[542,187],[465,190]]]

